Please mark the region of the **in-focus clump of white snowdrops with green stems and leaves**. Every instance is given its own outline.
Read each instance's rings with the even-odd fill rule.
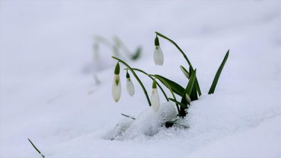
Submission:
[[[174,46],[176,46],[178,51],[182,54],[183,58],[185,58],[185,60],[187,61],[187,64],[189,66],[189,71],[187,71],[187,69],[185,69],[185,67],[180,65],[180,70],[185,75],[185,77],[188,79],[186,87],[182,87],[177,82],[174,82],[173,80],[170,80],[170,79],[165,78],[163,76],[160,76],[160,75],[157,75],[157,74],[155,74],[155,75],[148,74],[148,73],[142,71],[141,69],[132,68],[126,62],[124,62],[123,60],[112,56],[112,58],[114,58],[115,60],[118,60],[117,65],[115,67],[115,71],[114,71],[114,79],[113,79],[113,82],[112,82],[112,97],[117,102],[120,99],[120,96],[121,96],[121,82],[120,82],[120,77],[119,77],[119,73],[120,73],[119,62],[121,62],[122,64],[124,64],[127,67],[126,68],[126,70],[127,70],[127,73],[126,73],[126,78],[127,78],[126,89],[127,89],[128,94],[130,96],[133,96],[135,94],[135,87],[133,85],[132,80],[130,79],[130,75],[128,73],[128,70],[131,73],[133,73],[133,76],[135,77],[137,82],[139,82],[139,85],[142,87],[142,89],[144,91],[144,94],[146,96],[146,99],[148,101],[148,105],[151,106],[152,109],[155,112],[157,112],[159,107],[160,107],[160,98],[158,96],[158,91],[157,91],[157,87],[159,87],[160,90],[162,91],[162,94],[166,98],[166,100],[172,101],[173,103],[176,104],[176,108],[178,110],[178,116],[180,118],[181,117],[183,118],[187,115],[187,109],[189,108],[189,105],[190,105],[191,101],[197,100],[198,97],[200,97],[202,95],[201,89],[200,89],[200,86],[199,86],[199,83],[198,83],[198,79],[196,77],[196,69],[194,69],[192,67],[191,62],[187,58],[187,55],[182,51],[182,49],[180,49],[180,47],[178,46],[178,44],[176,44],[176,42],[173,42],[173,40],[169,39],[165,35],[162,35],[161,33],[157,33],[157,32],[155,32],[155,33],[156,33],[156,37],[155,37],[155,41],[154,41],[155,50],[154,50],[154,53],[153,53],[153,59],[154,59],[155,64],[161,66],[164,63],[164,55],[163,55],[162,50],[160,48],[160,42],[159,42],[159,39],[158,39],[158,36],[159,36],[159,37],[162,37],[164,40],[167,40],[167,41],[171,42],[171,44],[173,44]],[[212,86],[210,87],[210,91],[209,91],[208,94],[214,93],[214,89],[216,88],[216,84],[219,80],[219,76],[221,74],[223,66],[224,66],[226,60],[228,59],[228,54],[229,54],[229,50],[225,54],[225,58],[223,59],[223,62],[221,63],[218,71],[216,72],[216,75],[214,76],[214,80],[212,82]],[[148,76],[149,78],[151,78],[153,80],[151,97],[148,96],[147,91],[146,91],[144,85],[142,84],[142,81],[139,80],[135,71],[138,71],[140,73],[144,73],[146,76]],[[162,89],[160,84],[158,82],[156,82],[156,80],[159,80],[162,83],[162,85],[167,87],[167,89],[171,92],[172,98],[169,98],[167,96],[167,94],[165,94],[165,91]],[[181,100],[177,100],[178,97],[176,97],[176,95],[180,96]]]

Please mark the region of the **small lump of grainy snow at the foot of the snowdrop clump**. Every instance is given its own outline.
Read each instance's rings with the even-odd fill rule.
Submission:
[[[115,128],[104,135],[103,139],[122,141],[136,137],[152,137],[160,129],[165,128],[164,123],[174,121],[176,116],[176,106],[173,103],[162,103],[157,112],[149,107],[135,120],[130,118],[121,120]]]

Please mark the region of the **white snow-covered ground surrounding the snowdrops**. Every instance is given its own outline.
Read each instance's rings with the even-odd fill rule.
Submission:
[[[40,157],[28,138],[46,157],[281,157],[280,28],[281,1],[1,1],[0,157]],[[96,73],[101,85],[83,70],[92,35],[118,35],[129,49],[143,46],[130,65],[185,87],[179,65],[187,64],[169,42],[160,38],[163,67],[153,63],[155,30],[187,53],[203,96],[191,103],[189,129],[149,135],[154,117],[134,78],[135,96],[122,72],[121,100],[112,100],[110,50]],[[140,76],[150,94],[151,80]],[[105,139],[121,113],[150,115],[128,137]]]

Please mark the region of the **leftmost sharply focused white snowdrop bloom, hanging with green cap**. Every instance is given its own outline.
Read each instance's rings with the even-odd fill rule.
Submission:
[[[120,66],[119,66],[119,62],[117,62],[114,70],[114,78],[112,82],[112,97],[115,102],[117,102],[121,96],[121,82],[120,82],[119,73],[120,73]]]

